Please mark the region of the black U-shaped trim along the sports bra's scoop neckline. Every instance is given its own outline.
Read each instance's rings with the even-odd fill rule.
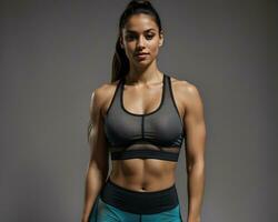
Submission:
[[[149,113],[135,113],[135,112],[131,112],[129,110],[127,110],[123,105],[123,88],[125,88],[125,82],[126,82],[126,79],[122,78],[122,82],[121,82],[121,90],[120,90],[120,104],[121,104],[121,108],[125,112],[127,112],[128,114],[131,114],[131,115],[135,115],[135,117],[147,117],[147,115],[150,115],[150,114],[153,114],[156,112],[158,112],[160,110],[160,108],[162,107],[162,103],[163,103],[163,100],[165,100],[165,88],[166,88],[166,74],[162,73],[162,93],[160,94],[160,103],[158,105],[158,108],[156,108],[155,110],[152,110],[151,112]]]

